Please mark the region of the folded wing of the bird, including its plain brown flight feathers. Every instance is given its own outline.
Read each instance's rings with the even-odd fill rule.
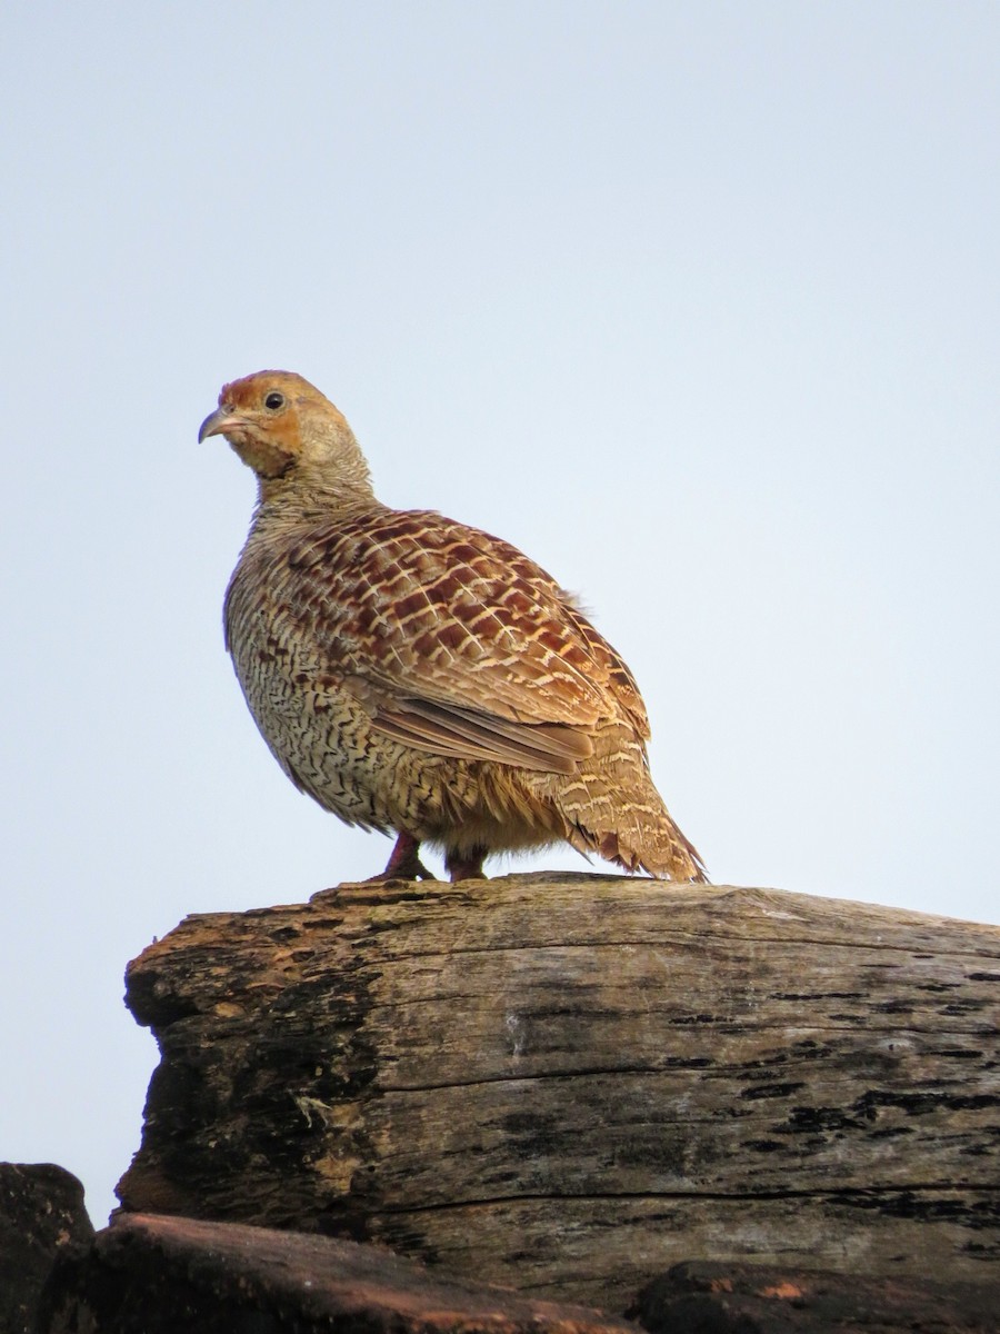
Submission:
[[[571,772],[603,718],[648,736],[636,684],[569,596],[499,538],[380,511],[289,551],[296,619],[383,732]]]

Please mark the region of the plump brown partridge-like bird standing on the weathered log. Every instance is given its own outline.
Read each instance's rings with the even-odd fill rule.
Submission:
[[[345,418],[291,371],[223,386],[221,435],[257,478],[224,602],[249,711],[288,778],[396,840],[372,880],[481,879],[491,854],[569,843],[705,880],[653,786],[632,672],[524,552],[393,510]]]

